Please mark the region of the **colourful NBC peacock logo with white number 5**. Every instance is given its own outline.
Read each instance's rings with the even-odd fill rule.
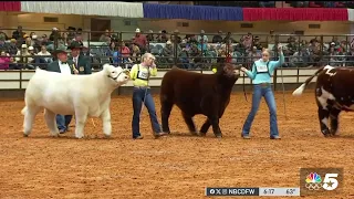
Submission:
[[[339,180],[336,179],[339,174],[325,174],[323,180],[317,172],[310,172],[305,179],[305,187],[309,190],[334,190],[339,187]]]

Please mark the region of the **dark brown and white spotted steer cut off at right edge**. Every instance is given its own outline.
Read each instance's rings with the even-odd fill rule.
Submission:
[[[298,87],[293,95],[301,95],[315,75],[319,75],[315,98],[319,106],[321,132],[324,136],[333,136],[339,128],[340,113],[342,111],[354,112],[354,70],[323,66]],[[327,127],[329,118],[331,129]]]

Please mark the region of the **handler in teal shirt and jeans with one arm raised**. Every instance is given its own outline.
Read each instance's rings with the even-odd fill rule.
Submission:
[[[270,51],[268,49],[263,49],[262,57],[253,63],[252,71],[241,67],[241,71],[244,72],[253,83],[252,107],[243,124],[241,134],[244,139],[250,138],[252,122],[258,112],[262,97],[266,98],[270,112],[270,138],[280,139],[277,121],[277,104],[270,83],[271,75],[273,74],[274,70],[284,63],[284,54],[281,45],[278,45],[278,52],[279,60],[270,61]]]

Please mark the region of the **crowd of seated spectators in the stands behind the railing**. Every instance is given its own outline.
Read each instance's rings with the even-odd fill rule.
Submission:
[[[0,30],[0,70],[45,67],[55,59],[51,55],[54,49],[67,50],[73,42],[83,46],[82,54],[91,56],[93,70],[102,67],[104,63],[131,67],[145,52],[150,52],[157,57],[159,67],[177,64],[181,69],[211,69],[223,61],[249,67],[253,61],[261,57],[263,48],[273,50],[277,42],[274,31],[261,38],[252,33],[232,35],[231,32],[222,31],[218,31],[216,35],[207,35],[204,30],[198,34],[183,35],[178,30],[143,32],[136,29],[131,40],[122,41],[113,30],[106,30],[96,41],[91,41],[90,48],[83,44],[82,38],[82,30],[72,27],[64,32],[53,28],[49,36],[23,32],[21,27],[18,27],[11,36]],[[333,36],[324,42],[320,36],[309,40],[304,36],[289,36],[279,39],[279,42],[284,48],[283,66],[354,64],[354,41],[347,38],[340,40]],[[277,59],[275,53],[272,55]]]

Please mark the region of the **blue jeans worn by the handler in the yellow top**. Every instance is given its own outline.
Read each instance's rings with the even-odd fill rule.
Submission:
[[[145,101],[144,101],[145,98]],[[150,94],[150,88],[137,88],[134,87],[133,90],[133,122],[132,122],[132,128],[133,128],[133,138],[136,138],[140,136],[140,112],[143,108],[143,102],[145,104],[145,107],[148,111],[150,123],[154,133],[162,133],[160,125],[158,124],[158,119],[156,116],[156,109],[154,104],[154,98]]]

